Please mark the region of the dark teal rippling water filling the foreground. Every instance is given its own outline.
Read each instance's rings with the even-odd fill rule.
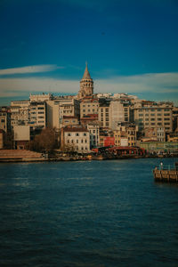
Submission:
[[[159,162],[0,164],[0,265],[178,266],[178,185],[154,182]]]

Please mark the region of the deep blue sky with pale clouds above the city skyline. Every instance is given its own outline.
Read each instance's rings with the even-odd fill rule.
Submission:
[[[178,105],[177,0],[1,0],[0,104],[77,93],[85,61],[95,93]]]

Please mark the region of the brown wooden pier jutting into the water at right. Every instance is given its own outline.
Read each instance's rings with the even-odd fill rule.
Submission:
[[[153,170],[154,179],[157,182],[178,182],[178,170]]]

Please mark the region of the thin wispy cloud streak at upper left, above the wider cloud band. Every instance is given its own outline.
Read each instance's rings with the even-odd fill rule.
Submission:
[[[63,67],[57,67],[56,65],[35,65],[35,66],[26,66],[21,68],[0,69],[0,75],[47,72],[47,71],[53,71],[55,69],[63,69]]]

